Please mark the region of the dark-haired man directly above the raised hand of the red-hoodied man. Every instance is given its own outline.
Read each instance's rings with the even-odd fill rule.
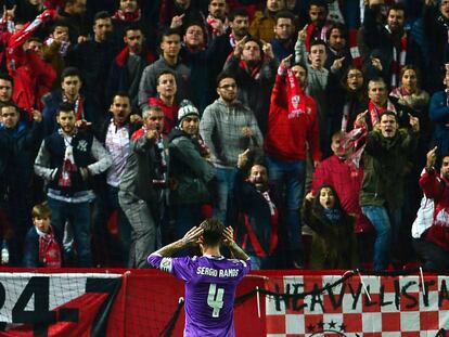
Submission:
[[[284,60],[293,54],[295,48],[295,15],[290,11],[275,14],[274,38],[270,41],[273,54],[278,60]]]

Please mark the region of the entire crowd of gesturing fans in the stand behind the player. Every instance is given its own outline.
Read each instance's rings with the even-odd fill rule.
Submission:
[[[2,263],[449,268],[449,0],[7,0]],[[182,254],[191,254],[183,251]]]

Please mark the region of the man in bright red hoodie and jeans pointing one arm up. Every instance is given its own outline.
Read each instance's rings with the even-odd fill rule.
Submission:
[[[291,59],[292,55],[282,60],[271,92],[265,151],[277,205],[284,205],[284,209],[281,209],[283,221],[280,223],[280,237],[288,239],[290,265],[286,267],[300,268],[303,244],[298,210],[304,195],[307,144],[315,166],[319,163],[321,153],[317,104],[302,89],[307,82],[307,68],[302,65],[290,68]]]

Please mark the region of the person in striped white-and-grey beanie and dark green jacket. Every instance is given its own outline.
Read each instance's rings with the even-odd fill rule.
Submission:
[[[170,210],[175,238],[181,238],[203,221],[202,205],[209,199],[208,184],[215,176],[209,152],[198,134],[200,113],[188,100],[178,111],[178,126],[168,137]],[[164,236],[163,236],[164,237]]]

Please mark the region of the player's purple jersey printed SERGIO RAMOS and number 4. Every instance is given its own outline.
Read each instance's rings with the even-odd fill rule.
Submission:
[[[211,256],[163,258],[152,254],[147,261],[185,281],[184,336],[235,336],[235,288],[249,272],[249,260]]]

